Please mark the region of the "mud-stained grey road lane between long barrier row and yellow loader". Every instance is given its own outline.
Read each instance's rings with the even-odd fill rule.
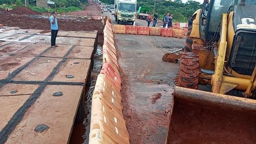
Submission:
[[[163,144],[179,64],[162,61],[185,39],[116,34],[123,114],[131,144]]]

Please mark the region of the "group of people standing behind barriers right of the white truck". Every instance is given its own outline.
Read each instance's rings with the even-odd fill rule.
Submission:
[[[154,14],[154,17],[151,16],[152,13],[148,14],[146,21],[148,22],[148,27],[150,26],[151,21],[153,20],[153,27],[156,27],[157,20],[158,20],[158,12]],[[172,14],[167,13],[163,18],[163,28],[171,28],[172,27]]]

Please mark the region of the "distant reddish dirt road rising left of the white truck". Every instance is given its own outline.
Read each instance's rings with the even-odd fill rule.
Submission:
[[[99,5],[93,0],[88,0],[90,6],[85,6],[83,11],[71,12],[71,15],[81,15],[81,16],[97,16],[101,14],[101,9]]]

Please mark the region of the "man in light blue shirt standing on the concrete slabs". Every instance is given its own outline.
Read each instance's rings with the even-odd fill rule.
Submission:
[[[52,16],[49,18],[50,24],[51,24],[51,47],[58,47],[56,45],[56,37],[58,34],[58,21],[56,16],[57,16],[57,13],[52,12]]]

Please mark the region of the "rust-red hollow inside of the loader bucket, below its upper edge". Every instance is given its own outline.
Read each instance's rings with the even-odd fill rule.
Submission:
[[[255,144],[255,112],[175,99],[168,144]]]

